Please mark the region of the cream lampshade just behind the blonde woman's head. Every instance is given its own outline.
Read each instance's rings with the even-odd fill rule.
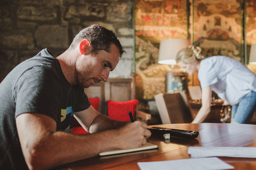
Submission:
[[[187,39],[167,39],[160,42],[158,63],[176,64],[176,55],[182,49],[190,45]]]

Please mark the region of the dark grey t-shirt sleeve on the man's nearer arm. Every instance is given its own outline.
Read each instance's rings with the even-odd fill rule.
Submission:
[[[15,85],[15,117],[30,112],[48,115],[57,121],[60,97],[60,80],[56,73],[47,68],[33,67],[24,72]]]

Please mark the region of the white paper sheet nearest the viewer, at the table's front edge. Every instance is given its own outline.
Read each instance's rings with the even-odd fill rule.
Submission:
[[[138,163],[141,170],[228,170],[233,166],[217,157]]]

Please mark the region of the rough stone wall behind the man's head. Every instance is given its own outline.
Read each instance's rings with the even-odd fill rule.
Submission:
[[[134,72],[132,0],[1,0],[0,78],[48,48],[60,55],[91,24],[113,30],[126,51],[109,78]]]

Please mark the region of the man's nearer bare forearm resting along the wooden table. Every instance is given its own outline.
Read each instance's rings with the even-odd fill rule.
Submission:
[[[117,134],[115,135],[112,131],[90,135],[56,132],[49,136],[47,145],[42,145],[34,150],[36,156],[31,156],[33,160],[29,164],[33,169],[37,169],[37,167],[48,169],[90,158],[100,152],[117,148],[117,138]]]

